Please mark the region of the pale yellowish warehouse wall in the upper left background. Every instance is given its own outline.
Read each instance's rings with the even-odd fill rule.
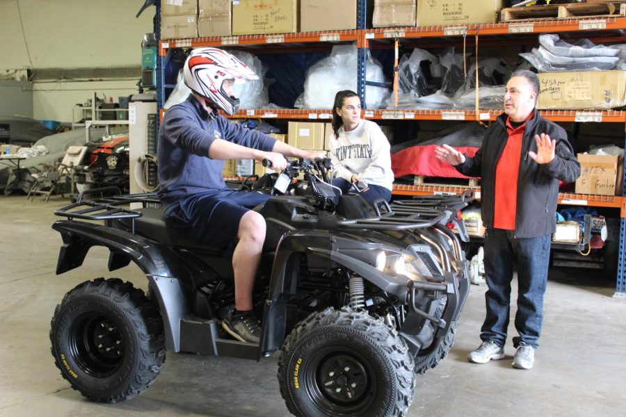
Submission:
[[[74,104],[127,96],[140,78],[144,0],[0,0],[0,79],[31,70],[33,117],[72,122]],[[1,99],[1,98],[0,98]]]

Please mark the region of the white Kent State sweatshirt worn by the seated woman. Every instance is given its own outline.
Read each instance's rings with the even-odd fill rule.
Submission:
[[[339,138],[330,135],[332,177],[350,181],[357,174],[369,185],[393,188],[390,145],[380,126],[361,120],[356,129],[346,132],[339,128]]]

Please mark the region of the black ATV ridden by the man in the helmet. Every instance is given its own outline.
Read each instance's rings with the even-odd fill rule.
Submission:
[[[56,211],[67,218],[53,225],[63,237],[57,274],[98,245],[110,250],[109,270],[132,261],[149,282],[145,294],[120,279],[86,281],[56,307],[51,351],[72,388],[117,402],[152,384],[166,349],[257,360],[280,350],[280,391],[296,416],[405,415],[415,374],[446,356],[467,297],[467,261],[447,225],[467,237],[457,212],[469,198],[373,209],[360,195],[337,196],[329,166],[294,161],[271,181],[287,194],[255,208],[267,224],[259,345],[220,327],[234,304],[230,258],[166,227],[154,195],[83,193]],[[294,186],[300,173],[306,187]]]

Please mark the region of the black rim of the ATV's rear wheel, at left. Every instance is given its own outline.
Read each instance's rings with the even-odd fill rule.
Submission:
[[[125,343],[114,320],[102,313],[84,313],[70,328],[70,354],[84,373],[113,375],[122,365]]]

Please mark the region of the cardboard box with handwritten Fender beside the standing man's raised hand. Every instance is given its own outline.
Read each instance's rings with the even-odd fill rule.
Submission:
[[[578,154],[577,194],[621,195],[623,159],[611,155]]]

